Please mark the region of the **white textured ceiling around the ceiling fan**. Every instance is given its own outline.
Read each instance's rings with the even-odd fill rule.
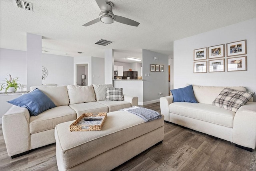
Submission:
[[[173,41],[256,18],[256,0],[111,0],[115,15],[140,23],[83,24],[98,17],[95,0],[26,0],[33,12],[0,0],[0,48],[26,50],[26,33],[42,35],[42,50],[62,56],[142,58],[142,49],[173,56]],[[111,40],[108,46],[94,44]],[[83,52],[77,54],[77,52]]]

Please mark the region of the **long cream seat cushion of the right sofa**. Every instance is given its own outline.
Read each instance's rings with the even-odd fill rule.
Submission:
[[[175,113],[218,125],[233,127],[235,112],[211,104],[176,102],[169,105],[170,115]]]

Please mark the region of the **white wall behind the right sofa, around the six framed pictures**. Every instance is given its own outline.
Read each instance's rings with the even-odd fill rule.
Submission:
[[[242,85],[246,87],[247,91],[256,92],[255,30],[256,18],[174,41],[174,88],[184,87],[186,83],[209,86]],[[247,55],[243,55],[247,56],[247,71],[193,73],[195,49],[225,44],[226,64],[226,44],[240,40],[247,42]]]

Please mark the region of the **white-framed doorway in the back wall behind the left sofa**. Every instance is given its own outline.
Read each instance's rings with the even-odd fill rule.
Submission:
[[[75,63],[74,85],[90,85],[89,63]]]

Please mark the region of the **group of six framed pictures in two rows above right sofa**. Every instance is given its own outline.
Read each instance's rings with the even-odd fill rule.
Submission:
[[[226,59],[225,44],[196,49],[194,73],[247,71],[246,54],[246,40],[227,43]]]

